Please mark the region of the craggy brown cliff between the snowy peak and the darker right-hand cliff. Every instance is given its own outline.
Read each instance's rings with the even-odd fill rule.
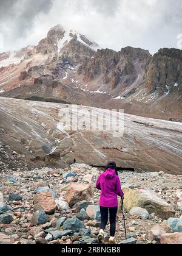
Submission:
[[[109,84],[109,90],[121,84],[130,84],[138,76],[136,62],[146,69],[151,59],[149,51],[136,48],[123,48],[120,52],[110,49],[98,50],[93,59],[84,63],[80,73],[84,74],[84,82],[90,82],[101,77],[102,84]]]

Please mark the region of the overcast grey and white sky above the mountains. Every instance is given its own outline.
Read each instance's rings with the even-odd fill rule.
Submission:
[[[50,27],[78,30],[102,48],[177,48],[182,0],[0,0],[0,52],[38,44]]]

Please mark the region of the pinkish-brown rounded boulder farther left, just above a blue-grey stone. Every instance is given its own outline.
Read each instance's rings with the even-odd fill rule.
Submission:
[[[51,215],[55,213],[57,208],[55,199],[50,192],[38,193],[34,196],[35,205],[34,211],[43,210],[45,213]]]

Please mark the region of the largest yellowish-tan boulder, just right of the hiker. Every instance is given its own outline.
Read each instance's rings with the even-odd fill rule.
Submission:
[[[145,208],[149,213],[156,213],[162,219],[174,217],[174,207],[149,188],[130,190],[124,188],[124,208],[130,212],[133,207]]]

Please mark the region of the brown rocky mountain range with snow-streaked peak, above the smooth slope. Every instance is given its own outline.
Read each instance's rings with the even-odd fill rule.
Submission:
[[[99,49],[84,35],[57,25],[38,46],[13,52],[14,57],[0,55],[0,95],[124,108],[181,121],[181,52],[160,49],[152,56],[140,48]]]

